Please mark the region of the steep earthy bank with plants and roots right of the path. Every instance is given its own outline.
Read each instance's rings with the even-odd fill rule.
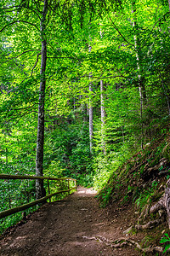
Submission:
[[[167,209],[161,205],[170,177],[169,152],[169,134],[148,143],[112,173],[98,195],[102,207],[111,207],[115,202],[120,206],[133,204],[138,220],[127,231],[146,232],[145,239],[152,245],[161,245],[162,235],[169,231],[168,204]]]

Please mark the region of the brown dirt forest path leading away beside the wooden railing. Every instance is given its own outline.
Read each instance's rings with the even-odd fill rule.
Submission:
[[[62,201],[43,205],[26,224],[17,225],[0,241],[0,255],[13,256],[137,256],[133,247],[113,249],[90,237],[116,240],[131,225],[126,207],[99,208],[93,189],[79,187]]]

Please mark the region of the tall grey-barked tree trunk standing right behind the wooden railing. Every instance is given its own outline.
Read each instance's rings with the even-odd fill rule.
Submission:
[[[38,124],[37,124],[37,155],[36,155],[36,175],[43,175],[43,143],[44,143],[44,101],[45,101],[45,85],[46,85],[46,61],[47,61],[47,42],[45,39],[46,15],[48,12],[48,0],[44,0],[42,20],[40,22],[40,32],[42,39],[42,59],[40,70],[40,90],[38,105]],[[36,198],[44,196],[43,181],[36,181]]]

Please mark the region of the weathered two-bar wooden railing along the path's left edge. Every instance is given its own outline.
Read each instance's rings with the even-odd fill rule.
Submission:
[[[39,203],[42,203],[44,201],[47,201],[48,199],[50,199],[52,196],[54,195],[59,195],[61,193],[68,193],[70,192],[72,189],[77,189],[77,180],[75,178],[71,178],[71,177],[43,177],[43,176],[28,176],[28,175],[7,175],[7,174],[0,174],[0,179],[42,179],[42,180],[48,180],[48,195],[38,199],[38,200],[35,200],[35,201],[31,201],[30,203],[27,203],[25,205],[22,205],[20,207],[14,207],[12,209],[8,209],[8,210],[5,210],[3,212],[0,212],[0,219],[1,218],[4,218],[4,217],[7,217],[11,214],[14,214],[16,212],[21,212],[21,211],[24,211],[30,207],[33,207],[33,206],[36,206],[37,204]],[[49,180],[55,180],[55,181],[65,181],[67,182],[67,186],[68,186],[68,189],[65,189],[65,190],[60,190],[60,191],[57,191],[55,193],[52,193],[50,194],[50,188],[49,188]],[[70,181],[73,181],[74,182],[74,186],[71,188],[70,187]]]

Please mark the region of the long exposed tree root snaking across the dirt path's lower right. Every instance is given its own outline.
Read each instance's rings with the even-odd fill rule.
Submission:
[[[88,236],[82,236],[84,239],[88,240],[96,240],[105,243],[105,245],[112,247],[112,248],[120,248],[124,246],[133,246],[139,249],[139,251],[143,253],[163,253],[163,247],[146,247],[143,248],[139,245],[139,242],[133,241],[131,239],[127,239],[124,237],[121,237],[115,241],[109,241],[107,238],[103,236],[93,236],[93,237],[88,237]],[[168,250],[170,252],[170,250]]]

